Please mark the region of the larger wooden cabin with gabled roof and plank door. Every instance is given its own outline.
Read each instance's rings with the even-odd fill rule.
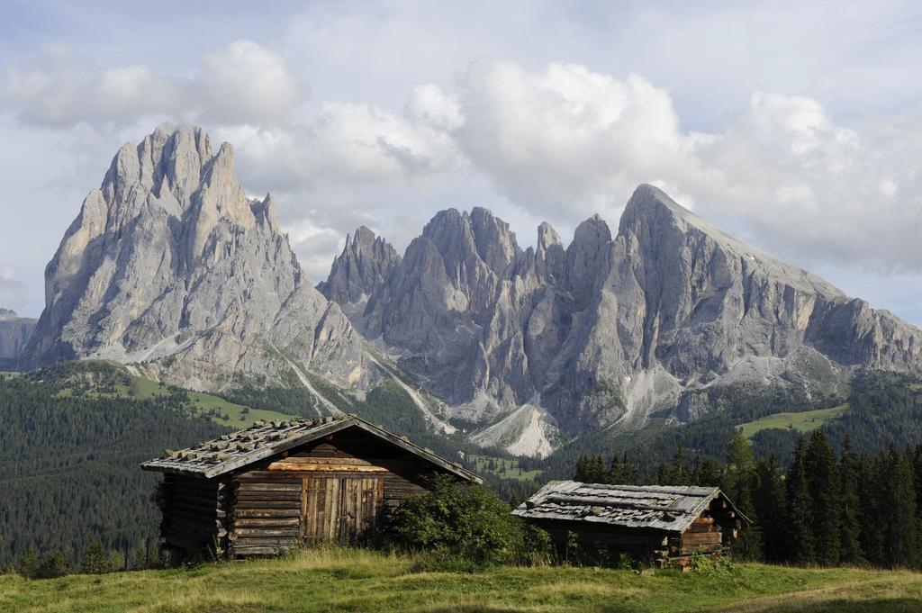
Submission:
[[[171,560],[359,540],[431,475],[481,482],[355,416],[261,421],[141,467],[164,473],[160,535]]]

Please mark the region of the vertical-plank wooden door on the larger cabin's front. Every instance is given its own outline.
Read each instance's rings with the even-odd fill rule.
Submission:
[[[301,541],[353,541],[374,529],[384,497],[381,477],[304,477]]]

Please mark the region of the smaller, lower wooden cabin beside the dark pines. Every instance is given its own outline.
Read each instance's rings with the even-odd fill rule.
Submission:
[[[550,533],[558,548],[622,551],[658,565],[723,553],[749,522],[717,488],[551,481],[513,511]]]

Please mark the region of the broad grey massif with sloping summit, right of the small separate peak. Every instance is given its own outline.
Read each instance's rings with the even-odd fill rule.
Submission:
[[[737,241],[650,185],[615,236],[594,216],[523,251],[483,208],[437,214],[389,260],[363,333],[399,357],[474,440],[545,454],[561,436],[654,410],[691,419],[712,386],[841,392],[860,367],[919,371],[922,332]],[[337,300],[336,296],[333,296]]]

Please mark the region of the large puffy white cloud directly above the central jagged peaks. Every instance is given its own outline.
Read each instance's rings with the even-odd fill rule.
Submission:
[[[540,215],[617,209],[637,183],[687,172],[672,100],[644,77],[480,60],[462,77],[460,99],[467,155],[502,194]]]

